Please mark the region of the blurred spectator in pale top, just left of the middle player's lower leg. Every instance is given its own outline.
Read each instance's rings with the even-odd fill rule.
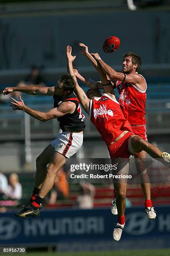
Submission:
[[[95,197],[95,187],[88,183],[80,183],[81,192],[77,196],[76,205],[80,209],[91,209],[94,206],[94,197]]]

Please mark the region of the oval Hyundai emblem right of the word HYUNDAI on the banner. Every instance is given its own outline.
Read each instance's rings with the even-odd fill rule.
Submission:
[[[149,233],[155,227],[155,221],[149,220],[144,212],[134,212],[126,215],[125,232],[141,236]]]

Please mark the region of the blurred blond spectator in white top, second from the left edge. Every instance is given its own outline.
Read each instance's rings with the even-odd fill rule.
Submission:
[[[20,200],[22,198],[22,185],[19,183],[18,174],[12,173],[9,177],[9,183],[7,189],[7,197],[11,200]]]

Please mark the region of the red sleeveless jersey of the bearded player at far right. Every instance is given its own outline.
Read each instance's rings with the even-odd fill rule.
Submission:
[[[125,118],[130,124],[145,124],[146,90],[141,91],[134,84],[121,81],[116,82],[116,87],[119,92],[119,103]]]

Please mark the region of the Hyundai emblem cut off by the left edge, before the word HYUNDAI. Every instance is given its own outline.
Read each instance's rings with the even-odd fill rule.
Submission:
[[[13,218],[0,218],[0,239],[13,239],[19,235],[21,231],[20,223]]]

